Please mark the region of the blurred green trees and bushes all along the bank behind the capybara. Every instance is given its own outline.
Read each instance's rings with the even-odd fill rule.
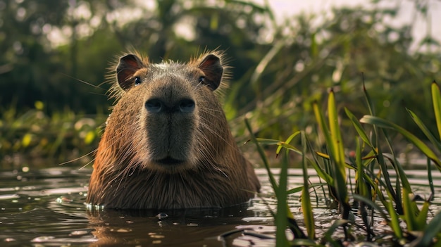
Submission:
[[[425,3],[414,6],[414,16],[429,14]],[[106,68],[128,49],[154,62],[225,50],[232,77],[223,101],[238,142],[249,139],[244,117],[261,138],[314,135],[312,102],[322,102],[331,87],[338,107],[361,118],[361,72],[379,118],[418,137],[405,107],[434,121],[428,85],[440,78],[440,45],[430,32],[414,42],[413,22],[388,23],[400,13],[398,1],[282,23],[268,5],[248,1],[26,0],[0,7],[0,160],[9,165],[36,158],[63,163],[92,152],[112,104]],[[345,132],[354,131],[351,125],[342,122]]]

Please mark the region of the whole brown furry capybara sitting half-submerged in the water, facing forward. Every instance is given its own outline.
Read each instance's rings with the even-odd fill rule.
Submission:
[[[186,64],[151,64],[139,55],[120,59],[118,102],[99,143],[87,203],[218,208],[243,203],[259,191],[213,93],[225,76],[221,53]],[[135,86],[135,80],[141,83]],[[168,110],[155,113],[158,106]]]

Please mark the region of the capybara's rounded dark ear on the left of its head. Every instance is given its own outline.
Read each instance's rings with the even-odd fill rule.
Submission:
[[[127,91],[130,87],[134,86],[133,74],[144,67],[145,65],[142,63],[142,60],[136,55],[128,54],[120,58],[120,63],[116,67],[116,76],[118,77],[120,87]]]

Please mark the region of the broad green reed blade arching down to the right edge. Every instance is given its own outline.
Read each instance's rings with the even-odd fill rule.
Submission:
[[[363,118],[361,118],[360,122],[368,123],[371,125],[377,125],[378,127],[388,128],[388,129],[395,129],[395,131],[402,134],[404,137],[409,139],[418,149],[420,149],[430,160],[432,160],[435,165],[437,166],[438,170],[441,171],[441,161],[440,159],[433,153],[430,148],[423,143],[420,139],[415,137],[414,134],[411,134],[411,132],[408,132],[406,129],[403,129],[402,127],[399,127],[399,125],[396,125],[393,122],[389,122],[387,120],[384,120],[382,118],[374,117],[371,115],[364,115]]]

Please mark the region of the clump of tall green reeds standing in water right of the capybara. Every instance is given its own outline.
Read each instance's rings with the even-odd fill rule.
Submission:
[[[278,228],[277,246],[341,246],[342,241],[380,241],[384,236],[388,236],[392,241],[390,244],[394,246],[441,246],[441,224],[439,224],[441,212],[431,219],[428,218],[430,201],[434,196],[431,172],[433,167],[441,171],[440,159],[435,154],[441,152],[441,94],[436,82],[432,83],[431,90],[435,126],[439,138],[435,137],[411,110],[406,110],[435,150],[399,125],[376,117],[373,102],[365,87],[364,96],[369,114],[359,120],[349,109],[344,108],[346,117],[352,122],[357,133],[352,138],[354,151],[348,151],[349,148],[344,146],[342,140],[344,129],[341,129],[339,125],[335,92],[332,89],[328,94],[326,114],[318,107],[317,102],[314,102],[312,107],[318,125],[317,138],[324,139],[324,145],[313,144],[304,131],[295,132],[285,141],[252,137],[263,158],[275,196],[278,198],[278,211],[275,213],[275,224]],[[249,123],[247,121],[246,123],[251,132]],[[426,199],[414,194],[406,172],[399,163],[392,146],[389,134],[391,130],[402,134],[427,157],[427,172],[432,193]],[[301,148],[290,144],[298,137],[301,139]],[[277,155],[282,153],[278,181],[269,169],[261,144],[277,145]],[[297,153],[302,158],[304,184],[287,191],[289,152]],[[318,177],[324,181],[321,186],[328,191],[327,194],[333,198],[333,202],[337,203],[338,210],[340,210],[340,219],[335,220],[321,236],[317,236],[316,233],[309,195],[310,187],[316,184],[309,184],[308,167],[313,167]],[[347,172],[355,174],[354,190],[349,189],[352,188],[352,184],[350,184],[351,179],[348,178]],[[392,173],[394,174],[391,175]],[[391,177],[396,177],[396,179],[391,179]],[[298,226],[287,206],[287,195],[298,191],[302,191],[302,212],[306,233]],[[373,230],[375,228],[373,226],[374,215],[383,218],[391,229],[390,233],[383,232],[381,236],[375,233]],[[359,217],[363,225],[356,224],[354,217]],[[401,224],[402,222],[405,226]],[[340,227],[343,229],[344,238],[336,239],[335,232]],[[293,241],[287,240],[285,233],[287,228],[294,234]],[[366,232],[361,236],[363,239],[352,235],[354,228]]]

